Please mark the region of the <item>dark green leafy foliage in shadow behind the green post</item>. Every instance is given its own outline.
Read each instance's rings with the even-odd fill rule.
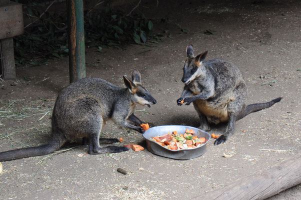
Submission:
[[[32,21],[25,24],[23,34],[14,37],[15,64],[37,66],[46,64],[48,59],[66,56],[66,11],[50,11],[56,0],[47,5],[38,0],[26,2],[23,13]],[[102,3],[102,7],[94,10],[99,3]],[[86,47],[95,46],[99,52],[103,52],[103,46],[120,48],[129,42],[143,44],[150,39],[152,42],[159,41],[159,36],[152,32],[152,21],[143,13],[126,14],[112,9],[109,0],[96,0],[95,5],[84,12]]]

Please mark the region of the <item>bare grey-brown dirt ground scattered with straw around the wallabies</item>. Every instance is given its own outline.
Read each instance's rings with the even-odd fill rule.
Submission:
[[[206,152],[189,160],[164,158],[147,150],[89,155],[87,146],[76,141],[62,148],[66,151],[2,162],[0,199],[189,199],[300,155],[301,1],[159,0],[156,7],[154,0],[139,9],[154,18],[155,31],[164,35],[162,41],[105,48],[104,53],[86,48],[86,76],[123,87],[122,75],[138,69],[142,84],[157,100],[150,108],[136,107],[142,120],[198,126],[193,106],[176,104],[190,43],[197,53],[208,49],[206,60],[222,57],[240,68],[249,103],[283,99],[237,121],[226,143],[214,146],[210,139]],[[159,18],[167,20],[155,20]],[[206,29],[214,34],[203,34]],[[54,100],[69,82],[68,58],[17,67],[16,74],[16,81],[0,81],[1,151],[47,141]],[[224,128],[216,125],[209,133],[221,134]],[[117,145],[145,147],[140,133],[120,129],[112,121],[101,136],[123,137]],[[128,173],[117,172],[118,167]],[[301,199],[301,185],[269,198],[280,199]]]

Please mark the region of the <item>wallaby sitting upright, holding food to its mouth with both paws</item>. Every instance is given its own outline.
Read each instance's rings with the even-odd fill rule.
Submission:
[[[245,115],[267,107],[281,100],[275,98],[265,103],[247,105],[247,90],[238,67],[224,59],[204,61],[207,50],[194,56],[192,45],[186,47],[182,82],[184,89],[177,104],[191,102],[200,118],[199,128],[210,130],[208,123],[228,121],[226,130],[215,141],[220,144],[234,132],[234,123]]]

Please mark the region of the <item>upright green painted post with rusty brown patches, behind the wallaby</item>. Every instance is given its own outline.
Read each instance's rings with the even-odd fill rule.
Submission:
[[[83,0],[66,0],[70,82],[85,77]]]

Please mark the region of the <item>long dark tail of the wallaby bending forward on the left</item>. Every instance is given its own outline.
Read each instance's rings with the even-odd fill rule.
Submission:
[[[23,157],[31,157],[37,155],[45,155],[59,149],[63,143],[64,143],[63,140],[60,140],[58,138],[53,138],[48,143],[39,146],[0,152],[0,161],[7,161],[12,159],[19,159]]]

